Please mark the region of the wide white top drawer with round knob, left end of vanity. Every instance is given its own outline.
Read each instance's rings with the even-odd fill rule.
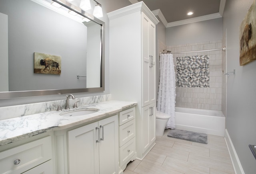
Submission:
[[[48,136],[0,152],[1,173],[20,174],[51,158],[52,143],[51,137]]]

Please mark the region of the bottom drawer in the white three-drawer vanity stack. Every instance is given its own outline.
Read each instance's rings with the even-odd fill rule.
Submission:
[[[135,137],[119,148],[120,166],[124,165],[135,154]]]

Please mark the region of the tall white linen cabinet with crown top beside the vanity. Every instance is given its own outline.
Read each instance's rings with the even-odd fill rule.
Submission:
[[[143,159],[155,145],[156,24],[144,2],[108,13],[110,94],[112,100],[138,102],[136,156]]]

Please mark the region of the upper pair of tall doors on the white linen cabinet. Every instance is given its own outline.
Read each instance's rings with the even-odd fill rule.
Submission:
[[[142,13],[142,107],[156,102],[156,25]]]

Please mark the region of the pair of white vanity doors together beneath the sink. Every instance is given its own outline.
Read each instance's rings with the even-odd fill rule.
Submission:
[[[68,131],[69,174],[118,174],[118,115]]]

